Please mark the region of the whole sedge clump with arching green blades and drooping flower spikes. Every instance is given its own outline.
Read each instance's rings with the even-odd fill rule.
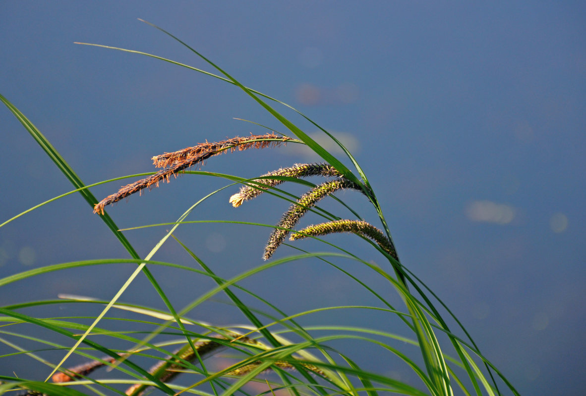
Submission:
[[[154,25],[152,25],[154,26]],[[156,26],[154,26],[156,27]],[[141,175],[130,175],[115,180],[129,177],[144,176],[141,180],[128,184],[121,188],[117,193],[98,202],[91,194],[89,188],[97,184],[111,182],[115,180],[103,181],[100,183],[86,185],[77,174],[71,169],[69,164],[60,156],[57,150],[49,143],[38,129],[7,99],[0,95],[0,100],[22,123],[30,135],[43,147],[47,155],[54,161],[64,175],[74,185],[74,190],[66,194],[53,198],[49,201],[30,208],[28,211],[15,216],[12,219],[2,223],[1,226],[11,222],[39,206],[49,204],[55,199],[65,195],[79,192],[84,199],[91,205],[106,223],[114,236],[122,243],[130,254],[130,259],[103,259],[76,261],[71,263],[54,264],[23,273],[14,274],[9,277],[0,279],[2,285],[16,281],[24,282],[27,278],[33,276],[42,276],[52,271],[64,270],[66,268],[80,268],[86,266],[121,266],[131,264],[136,266],[134,273],[128,278],[127,282],[120,288],[117,294],[110,301],[98,301],[91,298],[80,298],[71,296],[62,296],[62,299],[50,301],[23,302],[18,305],[11,305],[0,308],[0,321],[4,326],[0,330],[0,342],[12,349],[12,353],[0,356],[4,359],[4,366],[8,366],[6,360],[14,354],[26,354],[31,359],[36,359],[46,364],[50,371],[49,376],[43,381],[42,378],[23,379],[16,376],[0,375],[0,394],[8,391],[20,390],[22,395],[110,395],[110,394],[128,394],[141,395],[148,391],[158,390],[161,394],[199,394],[199,395],[224,395],[230,396],[234,393],[250,395],[244,385],[253,383],[258,380],[258,374],[267,370],[272,370],[277,374],[278,380],[265,381],[269,385],[268,391],[260,394],[275,391],[286,391],[291,395],[352,395],[367,394],[377,396],[381,392],[391,392],[402,395],[433,395],[448,396],[452,394],[465,395],[497,395],[502,394],[501,388],[506,388],[507,393],[518,394],[515,388],[506,380],[505,377],[479,352],[478,347],[468,335],[468,332],[460,324],[458,319],[452,315],[451,311],[441,302],[437,296],[425,286],[407,267],[404,267],[397,256],[390,231],[384,219],[383,212],[380,208],[379,201],[370,186],[369,180],[363,173],[357,161],[352,154],[338,141],[335,136],[330,135],[312,120],[306,118],[291,106],[284,104],[277,99],[268,97],[261,92],[255,91],[242,85],[231,75],[226,73],[216,64],[203,57],[196,50],[183,43],[175,36],[164,30],[166,35],[182,43],[187,49],[193,51],[197,56],[202,58],[212,66],[221,75],[216,75],[194,67],[180,64],[175,61],[161,58],[148,53],[131,51],[114,47],[98,46],[97,44],[87,44],[98,47],[105,47],[129,53],[138,53],[149,57],[155,57],[160,60],[186,67],[200,73],[207,74],[214,78],[229,82],[239,87],[250,98],[254,99],[259,105],[263,106],[274,118],[282,123],[291,136],[275,135],[267,133],[265,135],[253,135],[248,137],[234,137],[233,139],[223,140],[217,143],[202,143],[194,147],[176,151],[175,153],[165,153],[161,156],[154,157],[154,163],[158,167],[164,167],[163,170],[156,173]],[[281,115],[270,104],[286,106],[289,111],[297,112],[306,120],[319,128],[323,133],[328,135],[333,142],[338,144],[347,159],[352,163],[354,170],[347,168],[342,161],[336,159],[332,153],[325,150],[308,135],[302,132],[289,119]],[[315,151],[322,159],[318,164],[295,164],[289,168],[271,171],[254,179],[244,179],[236,175],[216,174],[206,172],[206,175],[225,178],[230,183],[226,187],[234,184],[240,184],[241,190],[230,198],[233,206],[240,206],[244,201],[256,197],[262,192],[274,195],[275,197],[286,199],[291,202],[291,207],[282,216],[278,225],[265,225],[257,223],[245,223],[250,226],[266,226],[273,229],[268,240],[263,258],[270,259],[272,253],[279,247],[289,233],[291,239],[300,239],[302,237],[312,237],[322,241],[328,246],[335,249],[331,253],[308,253],[302,252],[294,256],[283,259],[261,262],[257,267],[246,270],[239,276],[224,279],[217,276],[213,271],[213,265],[204,263],[195,252],[189,249],[182,241],[178,240],[173,232],[180,225],[194,223],[197,221],[187,221],[186,218],[197,208],[200,202],[215,194],[214,191],[202,198],[200,201],[188,208],[183,215],[175,222],[167,223],[171,228],[165,236],[152,248],[151,252],[144,258],[139,257],[133,249],[130,242],[124,234],[115,225],[114,221],[104,211],[105,206],[127,197],[134,192],[139,192],[142,188],[158,185],[159,181],[169,181],[171,175],[178,173],[200,175],[200,171],[186,170],[190,166],[202,163],[203,160],[217,154],[226,153],[233,150],[243,149],[263,149],[275,147],[285,143],[306,144]],[[315,185],[302,179],[302,177],[319,175],[321,177],[333,178],[326,180],[322,184]],[[284,182],[296,182],[306,185],[309,191],[301,197],[295,197],[287,192],[277,188]],[[226,188],[224,187],[224,188]],[[370,202],[376,210],[380,219],[382,229],[378,229],[370,223],[364,222],[360,216],[349,206],[343,204],[340,199],[332,194],[340,189],[357,190],[364,195],[364,202]],[[222,189],[221,189],[222,190]],[[219,191],[219,190],[218,190]],[[349,211],[353,219],[340,218],[336,214],[325,211],[319,206],[318,202],[326,197],[331,197],[342,202],[346,206],[345,210]],[[275,198],[276,199],[276,198]],[[312,211],[324,218],[323,223],[309,226],[301,230],[295,230],[299,219]],[[346,215],[347,217],[348,215]],[[223,222],[230,222],[224,221]],[[239,222],[242,223],[242,222]],[[151,225],[158,226],[158,225]],[[335,232],[354,233],[357,237],[362,237],[364,242],[369,243],[372,249],[377,249],[383,260],[388,261],[389,271],[376,266],[368,261],[360,259],[359,256],[347,252],[339,246],[331,245],[326,242],[327,235]],[[318,236],[321,236],[318,238]],[[152,260],[154,254],[160,247],[166,243],[169,238],[173,238],[182,246],[185,252],[199,266],[199,270],[175,263],[166,263]],[[311,311],[299,312],[294,315],[285,314],[278,307],[269,301],[261,298],[253,291],[243,288],[240,282],[246,278],[253,277],[255,274],[265,271],[268,268],[293,263],[298,260],[317,258],[324,263],[342,271],[350,280],[355,281],[364,290],[367,290],[374,297],[379,299],[380,306],[377,307],[323,307],[312,309]],[[400,295],[404,302],[404,309],[393,307],[385,298],[381,297],[381,292],[377,292],[369,285],[362,283],[359,278],[342,268],[336,266],[335,261],[343,258],[353,260],[358,268],[369,268],[375,271],[378,276],[386,281],[389,288],[393,288]],[[175,268],[181,271],[197,273],[201,276],[211,278],[216,287],[203,292],[190,304],[182,309],[173,307],[165,295],[165,291],[159,285],[155,276],[149,271],[155,266]],[[120,302],[122,292],[132,283],[139,273],[144,273],[151,282],[159,297],[166,306],[166,311],[160,311],[141,305],[130,305]],[[195,321],[189,318],[189,312],[193,308],[208,301],[214,295],[223,293],[231,302],[240,309],[244,316],[250,322],[247,326],[214,326],[210,323]],[[253,308],[244,304],[238,295],[246,294],[254,298],[265,308]],[[440,305],[441,311],[449,316],[449,321],[458,325],[458,333],[463,333],[465,338],[461,338],[448,328],[447,322],[440,314],[440,309],[435,307]],[[87,318],[34,318],[23,314],[23,308],[45,306],[50,307],[55,304],[98,304],[105,305],[100,315],[93,318],[90,325],[84,324],[83,319]],[[106,316],[108,312],[117,309],[131,311],[134,314],[142,315],[142,319],[125,319],[125,323],[131,326],[131,329],[125,332],[120,330],[109,330],[103,326],[109,323],[112,318]],[[398,323],[402,323],[413,333],[413,338],[408,339],[403,336],[386,332],[381,329],[368,329],[347,326],[301,326],[298,319],[319,314],[323,311],[332,311],[335,309],[363,309],[367,311],[377,311],[380,315],[385,315]],[[269,314],[267,312],[273,312]],[[444,314],[445,315],[445,314]],[[389,321],[387,321],[388,323]],[[12,331],[13,326],[29,323],[39,328],[66,336],[71,339],[71,345],[59,345],[48,340],[35,338],[19,332]],[[147,335],[141,335],[141,332],[133,332],[132,325],[144,329],[149,326],[151,330]],[[331,332],[327,335],[315,336],[315,333],[321,330]],[[100,342],[93,340],[93,335],[100,335]],[[176,339],[172,342],[155,342],[159,335],[175,335]],[[441,335],[441,336],[440,336]],[[35,342],[39,347],[36,350],[25,349],[18,343],[10,339],[22,338],[23,342]],[[440,339],[447,339],[445,345],[440,345]],[[120,342],[128,344],[124,350],[115,349],[108,343],[113,340],[119,345]],[[415,373],[419,379],[418,383],[408,384],[404,381],[385,376],[384,374],[364,370],[360,367],[360,362],[351,359],[343,351],[333,349],[329,343],[336,340],[352,340],[364,343],[366,347],[378,347],[387,353],[389,357],[398,359],[403,362],[405,367]],[[409,344],[415,347],[418,352],[413,356],[408,356],[397,346],[398,344]],[[179,349],[176,349],[179,346]],[[215,356],[219,350],[229,349],[230,353],[236,356],[236,363],[230,364],[226,369],[212,372],[207,369],[204,359],[209,356]],[[47,361],[38,352],[40,350],[64,350],[63,359],[58,362]],[[449,352],[445,352],[448,350]],[[67,359],[71,354],[78,354],[88,359],[87,363],[76,367],[69,367]],[[149,364],[137,364],[137,359],[154,360],[156,365],[148,369]],[[151,361],[152,363],[152,361]],[[100,366],[110,366],[117,373],[123,375],[123,379],[104,379],[94,378],[91,372]],[[144,366],[144,367],[143,367]],[[68,368],[69,367],[69,368]],[[147,368],[145,368],[147,367]],[[189,385],[174,385],[173,378],[179,376],[188,378],[186,381]],[[53,378],[53,383],[49,382]],[[500,379],[499,379],[500,378]],[[262,382],[262,381],[261,381]],[[500,388],[498,386],[500,383]],[[503,386],[504,384],[504,386]],[[128,387],[126,391],[124,388]],[[18,391],[15,392],[19,394]]]

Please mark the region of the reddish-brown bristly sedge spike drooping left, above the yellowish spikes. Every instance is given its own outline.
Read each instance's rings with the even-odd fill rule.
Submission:
[[[264,139],[264,140],[261,140]],[[270,140],[267,140],[270,139]],[[290,137],[277,136],[274,133],[267,133],[265,135],[251,135],[248,137],[233,137],[232,139],[222,140],[216,143],[200,143],[195,147],[188,147],[175,153],[165,153],[160,156],[152,157],[156,166],[169,166],[157,173],[145,177],[144,179],[135,181],[121,187],[115,194],[108,195],[96,205],[94,205],[94,213],[104,214],[104,206],[113,204],[126,198],[129,195],[139,192],[144,188],[159,187],[159,182],[166,180],[169,182],[171,175],[177,177],[177,174],[194,166],[201,164],[210,157],[222,154],[227,151],[246,150],[246,149],[265,149],[267,147],[278,146],[278,144],[285,143],[291,140]]]

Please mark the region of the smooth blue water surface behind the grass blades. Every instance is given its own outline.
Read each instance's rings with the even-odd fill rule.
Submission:
[[[0,93],[87,184],[152,171],[151,156],[164,151],[265,132],[233,118],[286,132],[232,85],[152,58],[73,44],[146,51],[213,71],[137,18],[156,23],[248,87],[295,106],[349,145],[380,199],[403,263],[451,307],[521,394],[580,394],[586,389],[585,15],[584,4],[574,1],[4,1]],[[319,136],[299,116],[277,109]],[[0,128],[0,222],[72,189],[7,109],[0,109]],[[202,170],[254,177],[316,160],[289,144],[214,157]],[[91,191],[101,199],[133,180]],[[226,184],[183,175],[108,213],[121,228],[172,222]],[[189,219],[274,224],[288,206],[267,196],[234,209],[227,200],[236,191],[236,186],[223,190]],[[338,195],[379,225],[359,194]],[[331,202],[323,206],[350,216]],[[309,216],[303,225],[317,221]],[[166,229],[125,235],[145,256]],[[194,224],[176,235],[220,276],[231,277],[261,263],[269,232]],[[385,265],[356,237],[328,240]],[[313,242],[298,246],[326,249]],[[292,253],[282,247],[275,257]],[[2,277],[100,258],[128,254],[79,194],[0,228]],[[196,267],[173,241],[154,258]],[[354,262],[342,265],[401,306],[374,273]],[[2,287],[0,303],[63,292],[110,299],[133,269],[132,264],[88,267],[30,278]],[[213,286],[200,277],[190,283],[182,273],[153,271],[178,307]],[[176,287],[180,281],[189,286]],[[289,314],[324,305],[377,304],[317,260],[274,268],[243,285]],[[192,316],[244,322],[222,303],[225,298],[218,299]],[[122,301],[163,307],[144,277]],[[67,305],[60,310],[51,315],[80,315]],[[94,311],[88,314],[99,309]],[[381,322],[380,315],[364,311],[301,322],[372,325],[407,334],[396,319]],[[349,346],[358,360],[362,347]],[[6,346],[0,350],[10,352]],[[362,363],[417,385],[406,367],[393,366],[388,358],[373,349]],[[48,374],[26,357],[0,360],[0,374],[13,372],[23,377],[33,372],[38,379]]]

